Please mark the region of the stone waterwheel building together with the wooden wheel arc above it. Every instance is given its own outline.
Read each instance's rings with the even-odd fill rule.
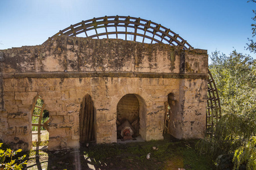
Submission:
[[[134,31],[127,32],[129,27]],[[86,37],[76,37],[81,32]],[[121,33],[124,40],[117,39]],[[0,64],[0,139],[14,148],[32,147],[39,96],[49,112],[47,124],[40,125],[49,131],[49,150],[117,142],[125,121],[145,141],[163,139],[164,131],[178,139],[205,136],[207,50],[191,48],[160,24],[130,16],[94,18],[42,45],[0,50]]]

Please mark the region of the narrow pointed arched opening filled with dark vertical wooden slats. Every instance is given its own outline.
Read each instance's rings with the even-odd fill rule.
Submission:
[[[85,95],[79,112],[80,143],[95,141],[94,107],[92,97]]]

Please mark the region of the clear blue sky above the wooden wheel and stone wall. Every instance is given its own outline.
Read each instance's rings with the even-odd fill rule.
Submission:
[[[101,16],[134,16],[170,28],[194,48],[229,54],[251,37],[256,3],[247,0],[2,0],[0,49],[39,45],[59,30]]]

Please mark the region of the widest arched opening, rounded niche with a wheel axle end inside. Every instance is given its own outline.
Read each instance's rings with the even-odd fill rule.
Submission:
[[[117,139],[145,139],[146,104],[139,95],[127,94],[117,104]]]

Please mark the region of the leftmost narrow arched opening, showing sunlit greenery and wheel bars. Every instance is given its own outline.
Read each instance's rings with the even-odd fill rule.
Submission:
[[[33,146],[48,146],[49,143],[49,112],[45,109],[42,97],[35,99],[32,112],[32,144]]]

